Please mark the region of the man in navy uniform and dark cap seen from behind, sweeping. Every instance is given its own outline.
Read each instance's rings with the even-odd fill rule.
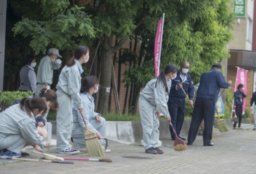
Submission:
[[[201,75],[196,102],[192,114],[190,130],[188,132],[187,145],[195,141],[201,121],[205,121],[203,133],[204,146],[213,146],[212,128],[215,114],[215,102],[218,100],[220,88],[230,88],[232,81],[226,83],[222,73],[221,64],[214,63],[212,69]]]

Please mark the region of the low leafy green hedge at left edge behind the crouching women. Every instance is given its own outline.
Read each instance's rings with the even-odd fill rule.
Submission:
[[[33,92],[21,92],[21,91],[0,91],[0,112],[4,111],[15,101],[32,96]]]

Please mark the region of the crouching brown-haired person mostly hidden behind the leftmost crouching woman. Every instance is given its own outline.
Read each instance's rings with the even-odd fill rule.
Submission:
[[[34,97],[36,97],[36,95],[26,97],[26,98],[32,99]],[[58,108],[59,108],[59,104],[58,104],[58,101],[57,101],[57,94],[53,90],[47,90],[47,88],[43,88],[39,93],[39,97],[42,97],[45,100],[45,103],[47,105],[47,112],[45,114],[42,114],[41,117],[37,117],[35,119],[35,122],[36,122],[35,126],[38,130],[38,134],[41,135],[44,138],[44,140],[46,140],[46,138],[48,136],[48,132],[44,127],[45,126],[45,119],[47,118],[47,114],[48,114],[49,109],[51,108],[52,110],[57,111]],[[15,103],[12,104],[12,105],[20,104],[21,100],[22,99],[15,101]],[[12,105],[10,105],[10,106],[12,106]],[[25,144],[25,147],[30,146],[30,145],[31,145],[31,143],[28,142],[28,143]],[[33,147],[36,150],[38,149],[37,145],[33,145]],[[21,156],[29,156],[29,155],[30,155],[29,153],[21,151]]]

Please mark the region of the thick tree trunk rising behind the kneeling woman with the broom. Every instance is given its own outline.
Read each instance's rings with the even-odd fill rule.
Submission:
[[[106,88],[110,88],[111,84],[111,73],[112,73],[112,50],[105,50],[102,48],[101,51],[101,63],[102,63],[102,73],[101,73],[101,88],[100,88],[100,100],[98,111],[101,114],[106,114],[109,107],[109,97],[110,93],[106,92]]]

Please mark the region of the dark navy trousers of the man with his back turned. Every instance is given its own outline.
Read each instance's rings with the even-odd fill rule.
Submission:
[[[204,144],[209,144],[212,139],[212,128],[214,124],[215,101],[211,98],[196,98],[190,130],[187,141],[193,143],[196,139],[198,128],[204,119],[205,129],[203,133]]]

